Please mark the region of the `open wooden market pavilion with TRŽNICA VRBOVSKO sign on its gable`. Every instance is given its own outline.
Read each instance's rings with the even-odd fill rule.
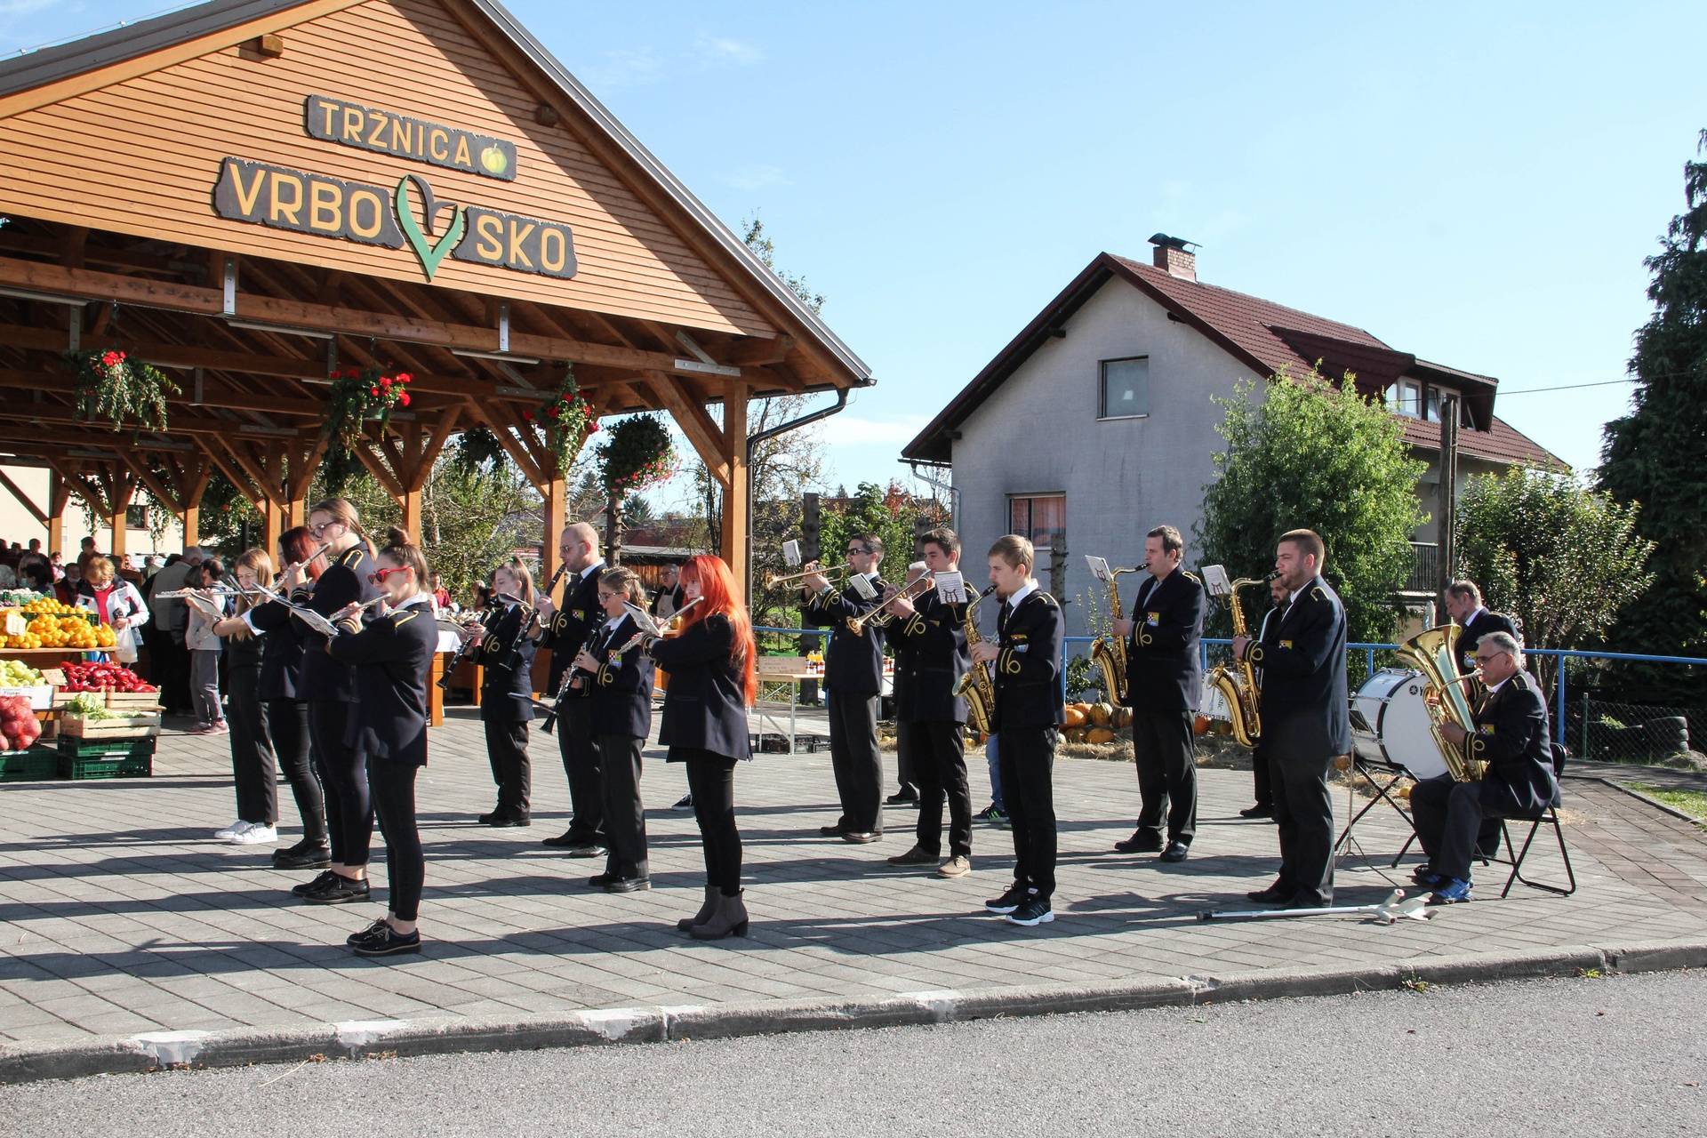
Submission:
[[[0,63],[0,456],[53,471],[26,500],[51,548],[75,493],[123,553],[138,486],[193,544],[213,471],[271,548],[329,375],[394,363],[411,406],[357,457],[406,527],[485,425],[545,498],[550,572],[563,474],[524,418],[572,363],[597,413],[674,418],[741,580],[748,403],[872,382],[493,0],[213,0]],[[77,416],[68,353],[109,348],[178,384],[164,430]]]

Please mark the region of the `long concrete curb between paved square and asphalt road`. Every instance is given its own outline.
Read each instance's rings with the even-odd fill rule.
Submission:
[[[1707,942],[1564,945],[1528,952],[1473,952],[1360,967],[1273,967],[1224,976],[1135,979],[1092,986],[1024,986],[915,991],[854,1000],[775,1000],[696,1007],[637,1007],[524,1019],[350,1020],[311,1029],[179,1031],[73,1044],[0,1046],[0,1083],[167,1068],[249,1066],[367,1056],[536,1051],[618,1042],[732,1039],[797,1031],[963,1024],[1063,1012],[1132,1012],[1161,1007],[1389,991],[1424,981],[1656,973],[1707,967]]]

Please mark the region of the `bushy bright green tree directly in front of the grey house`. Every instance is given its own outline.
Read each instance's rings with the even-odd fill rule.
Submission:
[[[1427,464],[1410,456],[1398,420],[1357,394],[1350,374],[1333,386],[1316,372],[1282,372],[1260,403],[1255,394],[1244,382],[1215,399],[1227,413],[1217,428],[1227,449],[1203,488],[1200,563],[1261,577],[1280,534],[1314,529],[1328,546],[1326,577],[1345,602],[1350,638],[1388,640],[1412,534],[1429,520],[1417,505]],[[1215,606],[1212,631],[1231,631],[1226,606]]]

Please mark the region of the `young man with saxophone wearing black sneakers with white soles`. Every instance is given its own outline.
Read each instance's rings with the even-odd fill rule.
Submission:
[[[985,909],[1014,925],[1055,920],[1055,742],[1067,722],[1060,684],[1062,609],[1031,577],[1036,553],[1019,534],[990,546],[990,584],[1002,599],[995,643],[971,647],[975,664],[992,665],[1002,737],[1002,792],[1014,827],[1014,884]]]

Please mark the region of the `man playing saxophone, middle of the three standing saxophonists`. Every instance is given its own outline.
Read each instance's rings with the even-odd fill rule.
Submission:
[[[1127,638],[1127,706],[1132,754],[1139,768],[1139,826],[1116,841],[1121,853],[1161,853],[1185,862],[1197,833],[1197,759],[1191,723],[1203,696],[1198,642],[1203,636],[1203,582],[1180,568],[1185,539],[1173,525],[1144,536],[1144,568],[1132,619],[1115,621]],[[1162,807],[1168,845],[1162,846]]]

